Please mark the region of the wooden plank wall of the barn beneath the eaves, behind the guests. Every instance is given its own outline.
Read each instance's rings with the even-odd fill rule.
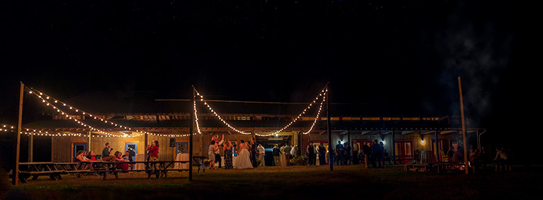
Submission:
[[[164,133],[167,134],[167,133]],[[203,134],[195,134],[193,136],[193,156],[206,156],[207,157],[207,149],[209,148],[209,144],[211,144],[211,138],[212,135],[219,135],[219,139],[222,137],[222,132],[216,132],[216,133],[203,133]],[[225,140],[231,140],[236,141],[239,143],[240,140],[250,141],[250,138],[252,135],[243,135],[239,133],[224,133],[225,134]],[[258,136],[257,136],[258,137]],[[293,137],[294,138],[294,137]],[[347,134],[345,135],[339,135],[338,133],[335,133],[331,135],[331,140],[333,147],[335,149],[336,144],[338,144],[339,140],[342,140],[343,142],[347,142]],[[420,140],[424,138],[425,144],[421,144]],[[413,150],[420,149],[421,151],[433,151],[431,141],[435,138],[435,135],[433,133],[426,134],[426,135],[420,135],[420,133],[409,133],[406,135],[402,135],[401,132],[397,131],[395,133],[395,140],[396,141],[411,141],[413,142]],[[449,144],[451,141],[458,141],[459,136],[451,133],[446,135],[439,135],[440,140],[444,140],[443,142],[443,151],[447,151],[449,149]],[[383,139],[385,141],[385,149],[392,155],[392,134],[388,133],[383,135]],[[93,137],[91,138],[91,144],[90,144],[90,151],[94,151],[96,155],[101,155],[102,150],[105,147],[105,142],[110,142],[110,147],[113,148],[112,153],[115,151],[121,151],[124,154],[124,142],[126,141],[139,141],[138,144],[138,153],[144,153],[145,148],[147,145],[145,144],[145,136],[141,135],[138,137],[130,137],[130,138],[105,138],[105,137]],[[162,136],[156,136],[156,135],[148,135],[148,144],[150,144],[151,141],[158,140],[160,145],[160,153],[159,153],[159,159],[160,160],[171,160],[172,159],[172,153],[173,153],[173,147],[169,147],[169,137],[162,137]],[[189,137],[176,137],[175,140],[189,140]],[[328,135],[322,134],[319,135],[318,133],[310,133],[307,135],[304,135],[300,133],[300,153],[301,155],[304,155],[305,148],[307,147],[307,144],[309,144],[309,141],[313,142],[319,142],[319,141],[327,141]],[[350,140],[379,140],[381,141],[381,135],[361,135],[360,133],[350,133]],[[53,162],[69,162],[71,161],[71,151],[72,151],[72,142],[88,142],[88,138],[86,137],[53,137]],[[293,141],[290,141],[289,144],[297,144]],[[352,144],[352,142],[350,142]],[[88,144],[87,144],[88,145]],[[37,149],[35,149],[37,150]],[[223,151],[221,149],[221,155]]]

